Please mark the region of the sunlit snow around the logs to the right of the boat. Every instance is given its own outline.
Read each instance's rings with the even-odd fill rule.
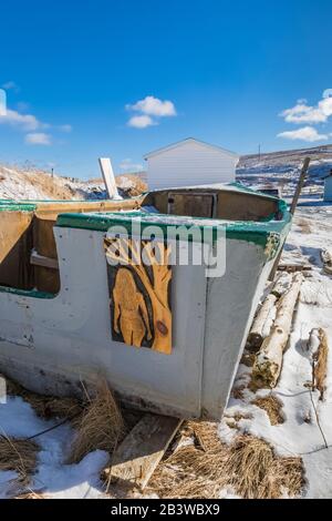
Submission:
[[[238,421],[241,432],[264,438],[280,456],[300,456],[305,469],[303,496],[307,498],[332,497],[332,277],[323,273],[320,259],[322,247],[332,248],[331,210],[330,205],[319,210],[301,206],[297,211],[281,260],[312,265],[312,276],[302,285],[281,378],[272,391],[282,402],[284,422],[271,426],[267,412],[251,403],[255,398],[269,396],[271,391],[253,394],[246,388],[242,398],[230,398],[219,429],[221,439],[229,442],[238,433],[228,426],[229,417],[249,416]],[[330,347],[325,401],[320,401],[318,392],[311,394],[305,387],[312,378],[305,347],[309,333],[317,327],[326,331]],[[247,386],[250,372],[251,368],[240,364],[234,389],[243,384]]]

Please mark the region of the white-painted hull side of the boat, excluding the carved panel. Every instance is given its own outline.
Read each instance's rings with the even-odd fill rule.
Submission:
[[[104,233],[54,227],[61,289],[54,298],[0,293],[0,371],[45,394],[81,391],[102,376],[129,405],[219,419],[271,269],[263,248],[227,239],[226,274],[173,268],[173,350],[111,336]]]

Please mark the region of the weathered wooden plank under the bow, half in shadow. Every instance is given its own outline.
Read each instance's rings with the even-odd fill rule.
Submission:
[[[104,474],[143,490],[183,420],[146,413],[118,446]]]

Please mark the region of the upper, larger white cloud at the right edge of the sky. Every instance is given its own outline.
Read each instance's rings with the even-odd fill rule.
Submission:
[[[307,100],[298,100],[291,109],[280,113],[288,123],[325,123],[332,115],[331,89],[323,92],[323,98],[317,105],[308,105]]]

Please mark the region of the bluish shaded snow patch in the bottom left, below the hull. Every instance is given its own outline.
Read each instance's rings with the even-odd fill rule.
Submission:
[[[8,398],[0,405],[0,436],[28,438],[42,432],[56,421],[38,418],[29,403],[20,397]],[[106,466],[108,454],[96,450],[87,454],[77,464],[65,464],[69,447],[74,431],[63,425],[35,438],[40,446],[38,470],[32,478],[30,489],[48,498],[97,498],[103,496],[100,471]],[[0,499],[22,492],[13,482],[15,472],[0,471]],[[24,492],[29,489],[23,490]]]

